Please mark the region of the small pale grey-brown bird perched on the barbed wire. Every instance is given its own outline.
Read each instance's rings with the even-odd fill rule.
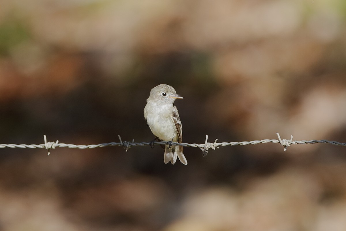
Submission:
[[[156,139],[160,141],[182,142],[183,130],[178,110],[173,104],[175,99],[183,99],[183,97],[176,94],[174,88],[166,84],[154,87],[147,99],[144,118]],[[165,163],[171,161],[174,165],[177,158],[184,165],[188,164],[183,154],[183,146],[165,145]]]

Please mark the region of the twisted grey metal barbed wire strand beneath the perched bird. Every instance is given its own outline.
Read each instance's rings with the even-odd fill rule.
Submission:
[[[153,144],[160,144],[160,145],[179,145],[184,147],[198,147],[202,150],[203,156],[207,156],[208,150],[216,148],[219,148],[219,146],[235,146],[235,145],[247,145],[247,144],[259,144],[259,143],[280,143],[282,146],[284,146],[284,151],[291,145],[291,144],[316,144],[316,143],[328,143],[333,145],[340,145],[340,146],[346,146],[345,143],[340,143],[337,141],[328,141],[328,140],[301,140],[297,141],[293,139],[293,136],[291,135],[290,140],[282,139],[279,135],[279,133],[276,133],[277,138],[279,140],[275,139],[264,139],[264,140],[253,140],[253,141],[241,141],[241,142],[221,142],[218,143],[218,139],[216,139],[213,143],[208,142],[208,135],[206,135],[206,140],[203,144],[196,144],[196,143],[177,143],[177,142],[166,142],[166,141],[160,141],[160,142],[141,142],[137,143],[134,140],[130,141],[122,141],[120,135],[119,141],[120,142],[111,142],[111,143],[102,143],[102,144],[89,144],[89,145],[76,145],[76,144],[65,144],[65,143],[59,143],[58,140],[55,142],[47,142],[47,136],[43,135],[44,142],[43,144],[0,144],[0,148],[45,148],[48,150],[48,156],[51,153],[51,149],[55,148],[78,148],[78,149],[91,149],[91,148],[103,148],[107,146],[122,146],[125,148],[126,151],[128,151],[129,148],[135,147],[135,146],[152,146]],[[152,146],[153,147],[153,146]]]

